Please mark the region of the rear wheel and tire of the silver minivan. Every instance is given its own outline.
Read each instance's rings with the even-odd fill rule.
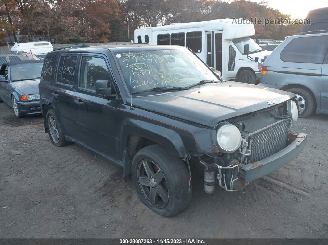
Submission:
[[[316,99],[311,92],[304,88],[291,88],[287,92],[294,93],[298,100],[298,117],[306,118],[311,116],[316,110]]]

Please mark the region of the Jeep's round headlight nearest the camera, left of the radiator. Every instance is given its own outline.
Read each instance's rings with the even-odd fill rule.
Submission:
[[[220,123],[216,137],[221,152],[231,153],[236,151],[241,144],[239,129],[230,123]]]

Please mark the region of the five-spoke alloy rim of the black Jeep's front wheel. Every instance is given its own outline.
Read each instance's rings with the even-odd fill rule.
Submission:
[[[169,201],[169,190],[160,168],[150,160],[143,160],[138,167],[138,181],[145,198],[157,208],[164,208]]]

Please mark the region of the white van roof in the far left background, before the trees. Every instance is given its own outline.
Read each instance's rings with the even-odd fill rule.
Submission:
[[[46,54],[53,51],[53,47],[50,42],[28,42],[28,43],[15,43],[10,51],[17,53],[30,53],[33,54]]]

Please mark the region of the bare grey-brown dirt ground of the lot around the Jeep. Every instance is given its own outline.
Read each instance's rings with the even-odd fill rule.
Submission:
[[[122,169],[72,144],[58,148],[41,116],[16,118],[0,103],[0,237],[327,238],[328,116],[299,119],[303,152],[268,177],[205,194],[193,180],[188,209],[164,218],[147,209]]]

